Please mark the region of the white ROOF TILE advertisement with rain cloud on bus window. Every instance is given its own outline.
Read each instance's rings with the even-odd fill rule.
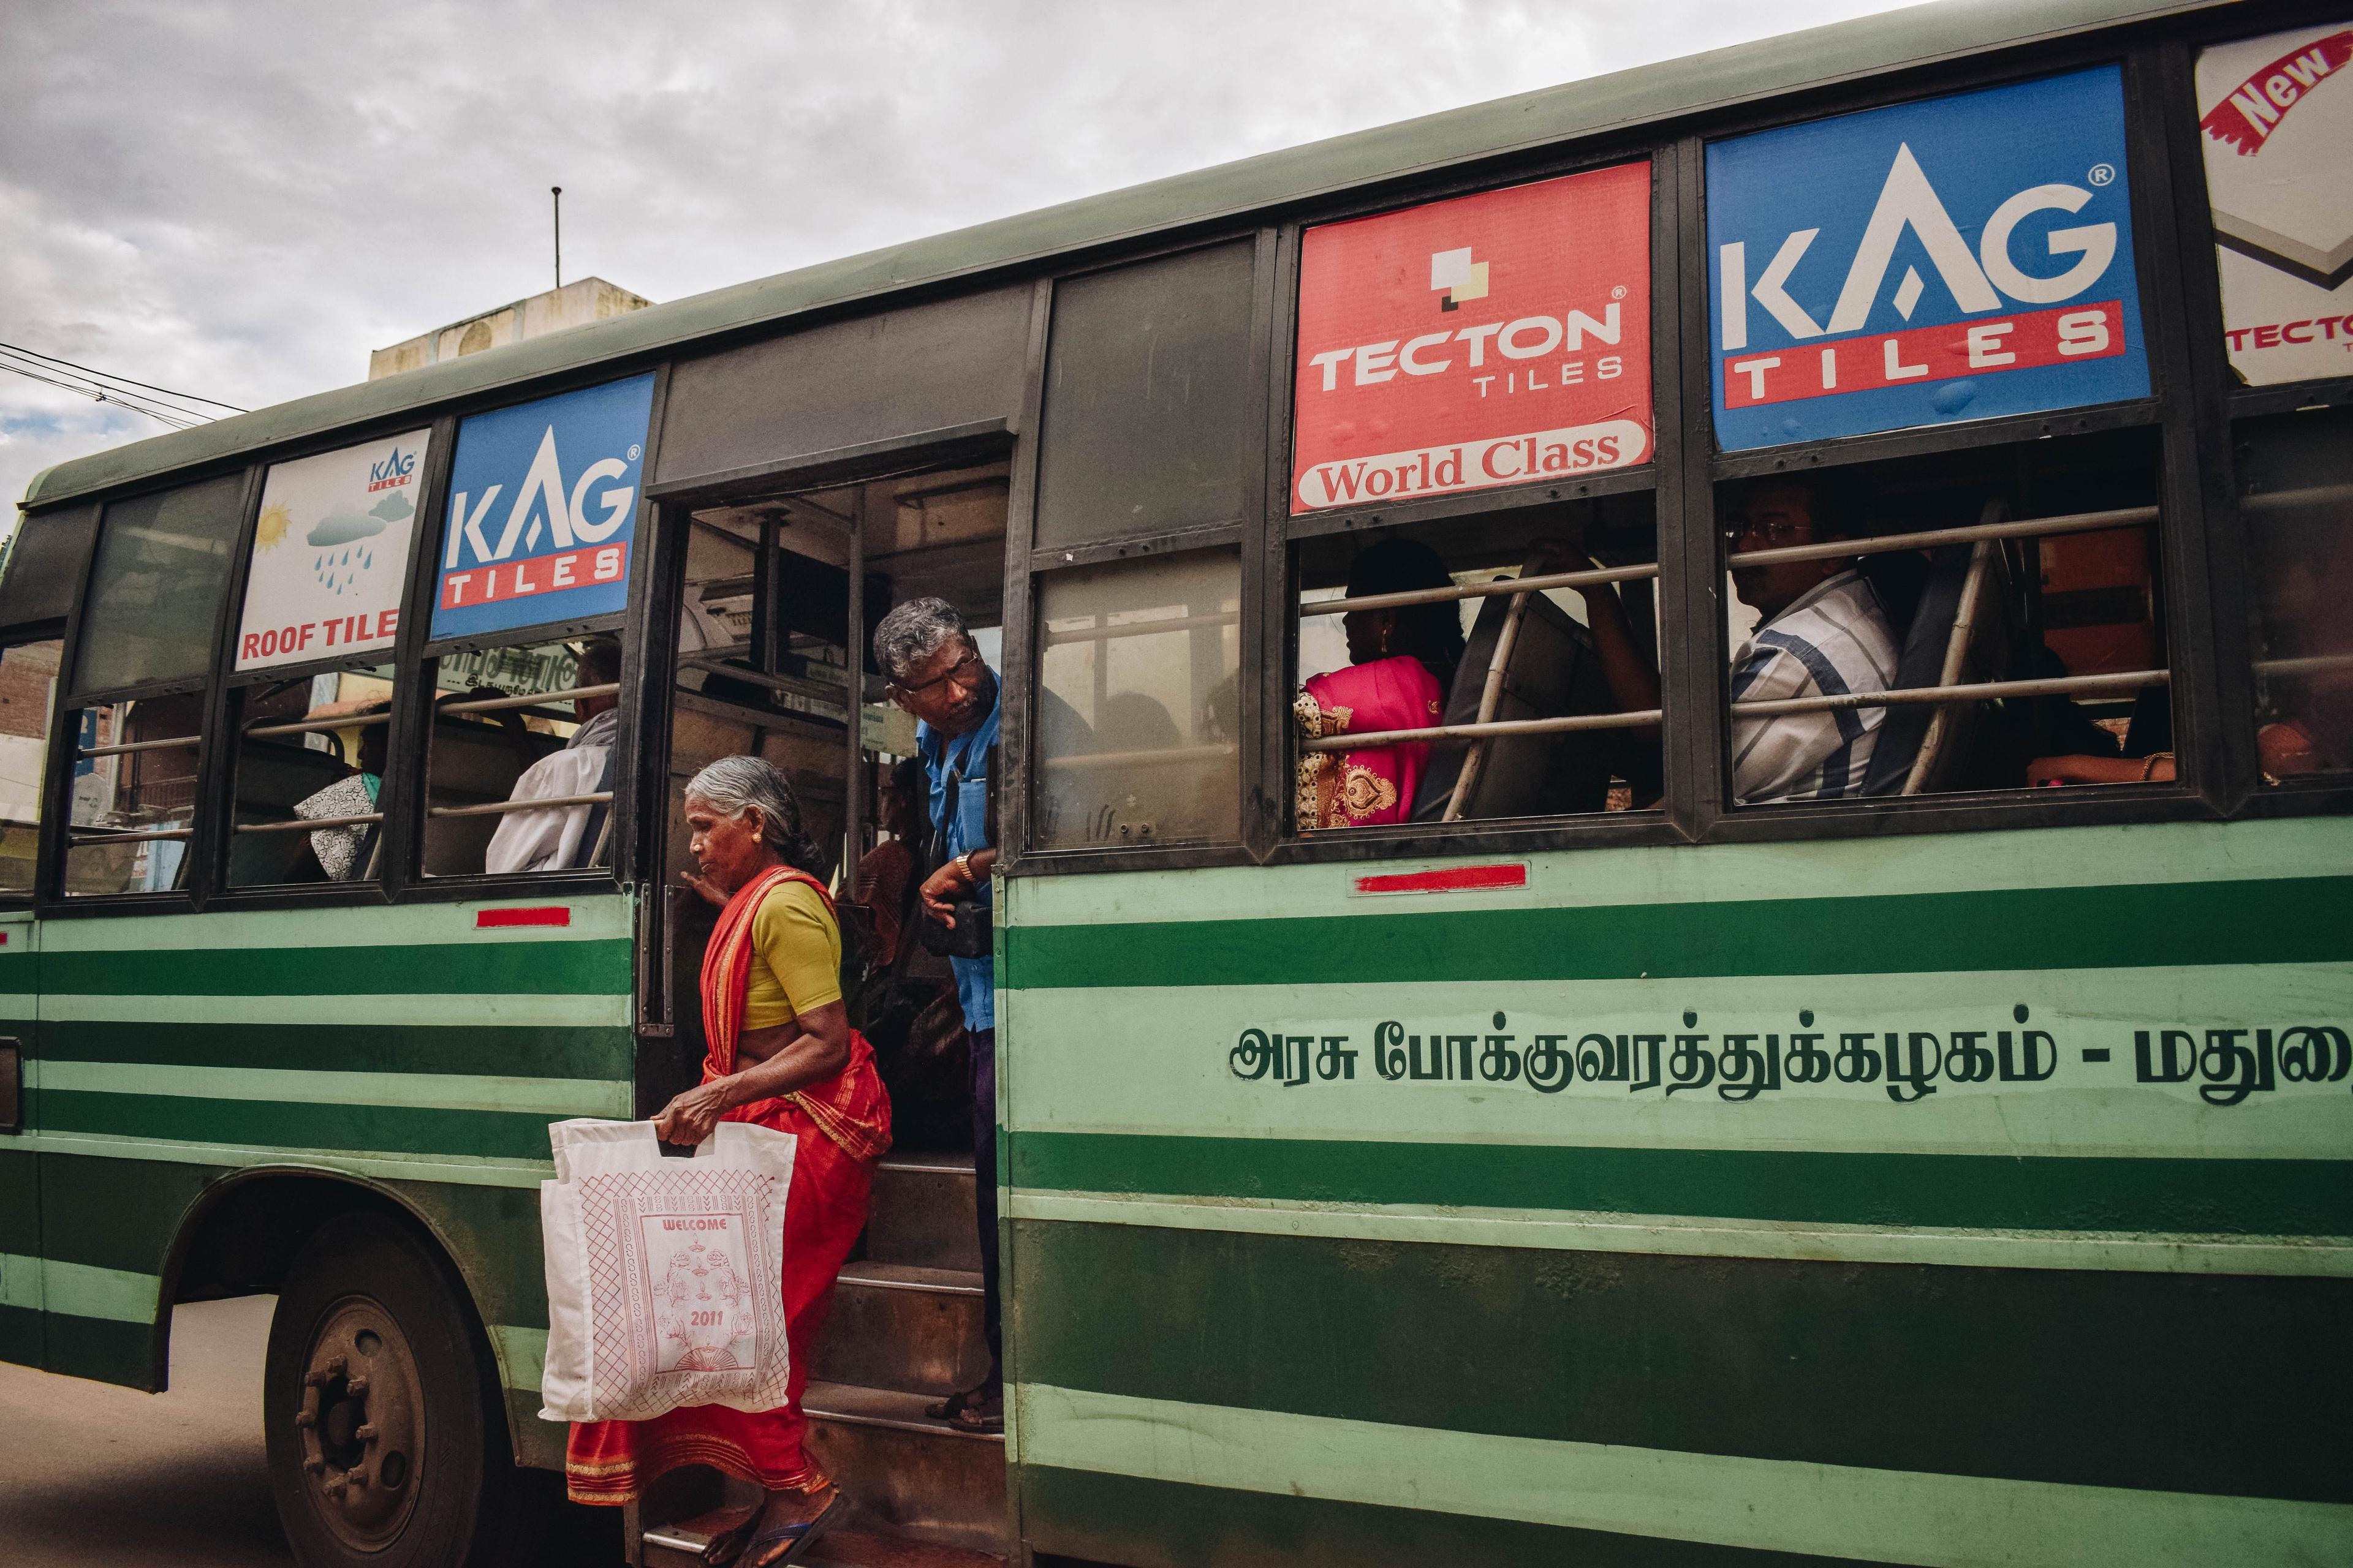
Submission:
[[[245,571],[238,668],[391,649],[426,430],[271,465]]]

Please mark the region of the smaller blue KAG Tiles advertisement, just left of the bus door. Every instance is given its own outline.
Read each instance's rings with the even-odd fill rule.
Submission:
[[[654,378],[475,414],[456,430],[433,637],[628,604]]]

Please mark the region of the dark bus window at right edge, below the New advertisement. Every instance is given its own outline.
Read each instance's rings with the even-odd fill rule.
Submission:
[[[2235,435],[2264,778],[2353,771],[2353,409]]]

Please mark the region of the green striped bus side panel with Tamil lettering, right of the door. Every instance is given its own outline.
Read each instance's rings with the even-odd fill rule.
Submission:
[[[1024,1540],[2334,1561],[2348,870],[2311,818],[1014,879]]]

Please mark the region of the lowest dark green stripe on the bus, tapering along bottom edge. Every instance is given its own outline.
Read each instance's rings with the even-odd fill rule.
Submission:
[[[1828,1559],[1744,1552],[1654,1535],[1619,1535],[1334,1502],[1289,1490],[1186,1486],[1099,1469],[1021,1465],[1021,1540],[1087,1563],[1478,1563],[1478,1568],[1828,1568]],[[1402,1502],[1402,1497],[1400,1497]],[[1200,1540],[1198,1559],[1169,1559],[1169,1521]],[[1847,1559],[1847,1568],[1854,1568]]]

